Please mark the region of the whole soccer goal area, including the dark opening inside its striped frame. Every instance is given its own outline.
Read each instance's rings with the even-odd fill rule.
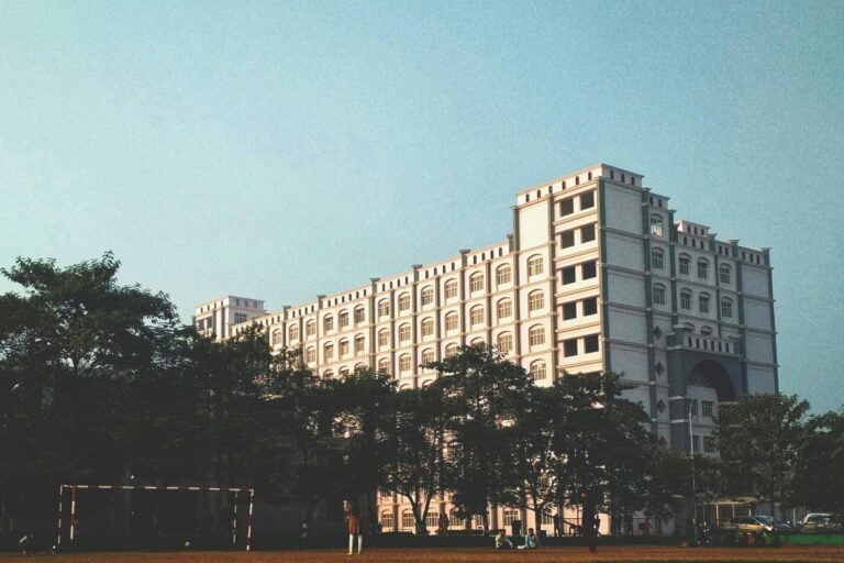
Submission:
[[[252,550],[255,489],[60,485],[56,550]]]

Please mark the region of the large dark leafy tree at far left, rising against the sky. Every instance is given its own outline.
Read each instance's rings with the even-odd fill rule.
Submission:
[[[23,288],[0,296],[0,374],[20,389],[3,405],[4,507],[9,490],[18,507],[40,508],[51,483],[123,475],[125,388],[174,360],[180,327],[166,295],[120,285],[119,269],[111,253],[0,269]]]

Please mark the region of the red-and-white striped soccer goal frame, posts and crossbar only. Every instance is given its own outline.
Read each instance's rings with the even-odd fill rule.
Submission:
[[[246,539],[245,550],[252,551],[252,528],[255,514],[255,489],[247,487],[213,487],[213,486],[182,486],[182,485],[79,485],[63,484],[58,490],[58,521],[56,527],[55,549],[60,550],[63,540],[66,538],[69,545],[73,545],[78,537],[78,517],[79,514],[79,493],[90,492],[148,492],[148,493],[220,493],[229,497],[231,501],[231,511],[227,515],[230,519],[231,545],[237,547],[237,500],[246,497],[248,500],[248,514],[246,515]],[[90,497],[89,497],[90,498]],[[66,504],[67,503],[67,504]],[[69,512],[67,508],[69,507]]]

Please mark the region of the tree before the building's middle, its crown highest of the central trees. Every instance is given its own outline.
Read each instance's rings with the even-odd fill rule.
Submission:
[[[487,507],[508,488],[509,460],[504,429],[524,406],[533,380],[524,369],[484,344],[464,346],[432,364],[440,377],[449,412],[447,448],[452,503],[464,517],[481,515],[488,529]]]

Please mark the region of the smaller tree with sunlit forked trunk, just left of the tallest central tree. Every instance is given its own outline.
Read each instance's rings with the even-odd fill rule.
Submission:
[[[445,492],[444,397],[438,386],[427,386],[400,390],[393,400],[381,487],[408,499],[417,533],[425,533],[431,501]]]

